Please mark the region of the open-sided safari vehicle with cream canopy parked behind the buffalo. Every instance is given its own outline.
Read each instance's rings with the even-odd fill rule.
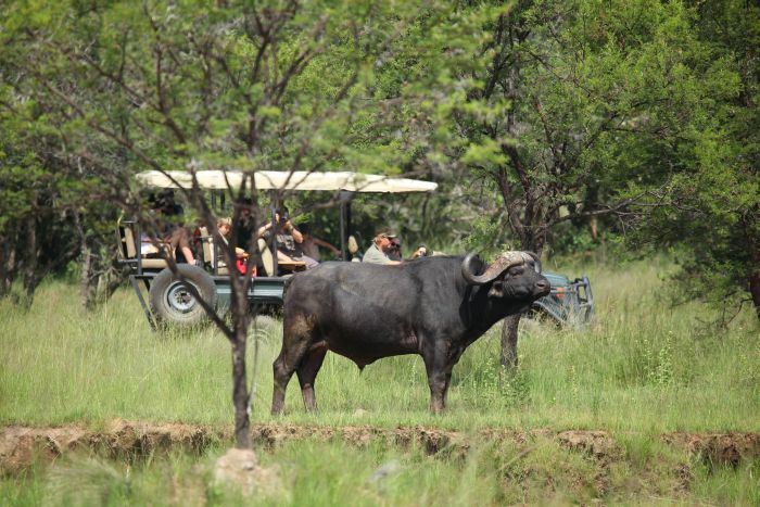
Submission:
[[[243,175],[236,172],[200,170],[195,178],[201,189],[211,192],[212,202],[220,198],[219,193],[240,186]],[[137,175],[144,186],[155,189],[192,188],[192,176],[185,172],[162,173],[147,170]],[[286,189],[289,191],[328,191],[339,192],[340,203],[340,249],[343,259],[350,259],[357,253],[356,241],[349,236],[351,229],[351,200],[355,193],[409,193],[431,192],[438,183],[408,178],[390,178],[379,175],[357,173],[280,173],[257,172],[255,185],[258,190]],[[185,282],[169,268],[162,255],[167,252],[144,253],[141,241],[140,224],[136,220],[121,220],[118,232],[118,262],[129,269],[129,283],[140,305],[155,329],[159,322],[193,325],[205,319],[203,307],[197,302]],[[273,238],[274,240],[274,238]],[[221,262],[218,245],[207,231],[201,229],[202,252],[199,257],[203,267],[177,264],[178,274],[192,283],[203,299],[220,313],[229,307],[231,287],[228,268]],[[299,270],[299,263],[282,265],[273,255],[274,245],[258,240],[263,272],[252,279],[248,297],[252,306],[282,305],[282,295],[287,277],[280,276],[284,270]],[[545,313],[560,324],[584,322],[593,315],[591,284],[584,276],[569,281],[567,277],[544,272],[552,283],[552,293],[534,303],[534,309]],[[143,295],[143,289],[148,301]]]

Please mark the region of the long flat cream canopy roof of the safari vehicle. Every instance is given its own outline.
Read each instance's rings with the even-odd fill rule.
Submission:
[[[242,172],[198,170],[195,179],[201,189],[227,190],[240,188]],[[192,188],[192,173],[183,170],[145,170],[136,177],[143,185],[157,188]],[[351,172],[316,173],[306,170],[253,173],[258,190],[325,190],[377,193],[431,192],[438,188],[432,181],[393,178]]]

